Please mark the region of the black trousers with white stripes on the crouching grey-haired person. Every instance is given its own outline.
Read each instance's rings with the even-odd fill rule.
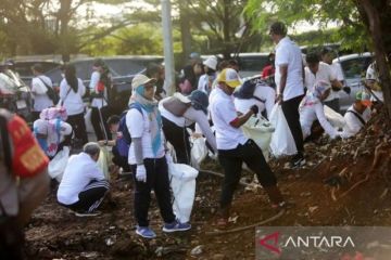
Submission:
[[[79,193],[79,200],[71,205],[64,205],[74,211],[92,212],[103,202],[104,195],[109,191],[109,182],[91,181],[83,192]]]

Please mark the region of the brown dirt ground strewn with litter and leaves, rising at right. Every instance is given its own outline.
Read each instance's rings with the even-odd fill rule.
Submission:
[[[391,225],[391,128],[384,113],[350,140],[320,139],[305,145],[307,165],[292,170],[288,158],[272,159],[283,195],[295,206],[266,225]],[[203,169],[222,172],[213,160]],[[243,182],[252,180],[243,173]],[[103,213],[77,218],[55,203],[55,191],[34,213],[26,229],[28,259],[254,259],[254,229],[216,234],[222,178],[201,172],[192,213],[192,230],[161,232],[155,199],[151,226],[157,238],[135,234],[133,182],[113,181],[113,202]],[[228,231],[262,222],[276,214],[262,187],[240,185]]]

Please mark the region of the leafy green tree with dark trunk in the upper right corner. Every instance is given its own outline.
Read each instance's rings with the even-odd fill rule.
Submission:
[[[249,0],[245,14],[253,17],[254,27],[263,31],[277,17],[290,26],[306,21],[317,22],[325,28],[333,23],[340,27],[332,38],[340,39],[343,46],[357,51],[374,48],[391,119],[390,64],[387,60],[391,54],[391,6],[388,0]]]

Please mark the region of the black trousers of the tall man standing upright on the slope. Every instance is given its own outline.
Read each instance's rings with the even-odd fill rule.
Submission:
[[[283,115],[287,119],[289,129],[291,130],[292,136],[294,139],[294,143],[297,145],[298,154],[302,155],[304,153],[304,141],[303,141],[303,132],[300,126],[300,114],[299,114],[299,105],[302,101],[303,95],[290,99],[288,101],[283,101],[281,103],[281,108]]]

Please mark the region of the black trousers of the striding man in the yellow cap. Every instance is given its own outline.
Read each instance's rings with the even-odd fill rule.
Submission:
[[[232,202],[235,190],[240,181],[243,162],[255,172],[262,186],[268,187],[277,184],[277,179],[267,165],[261,148],[251,139],[245,144],[239,144],[234,150],[218,150],[218,161],[224,169],[220,195],[220,207],[223,209],[229,207]]]

